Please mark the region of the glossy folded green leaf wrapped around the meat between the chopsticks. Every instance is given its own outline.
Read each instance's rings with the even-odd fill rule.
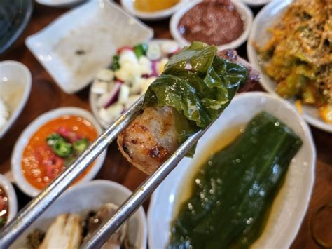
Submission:
[[[247,80],[248,69],[223,60],[217,48],[193,42],[173,55],[148,88],[145,107],[174,107],[179,142],[205,129]]]

